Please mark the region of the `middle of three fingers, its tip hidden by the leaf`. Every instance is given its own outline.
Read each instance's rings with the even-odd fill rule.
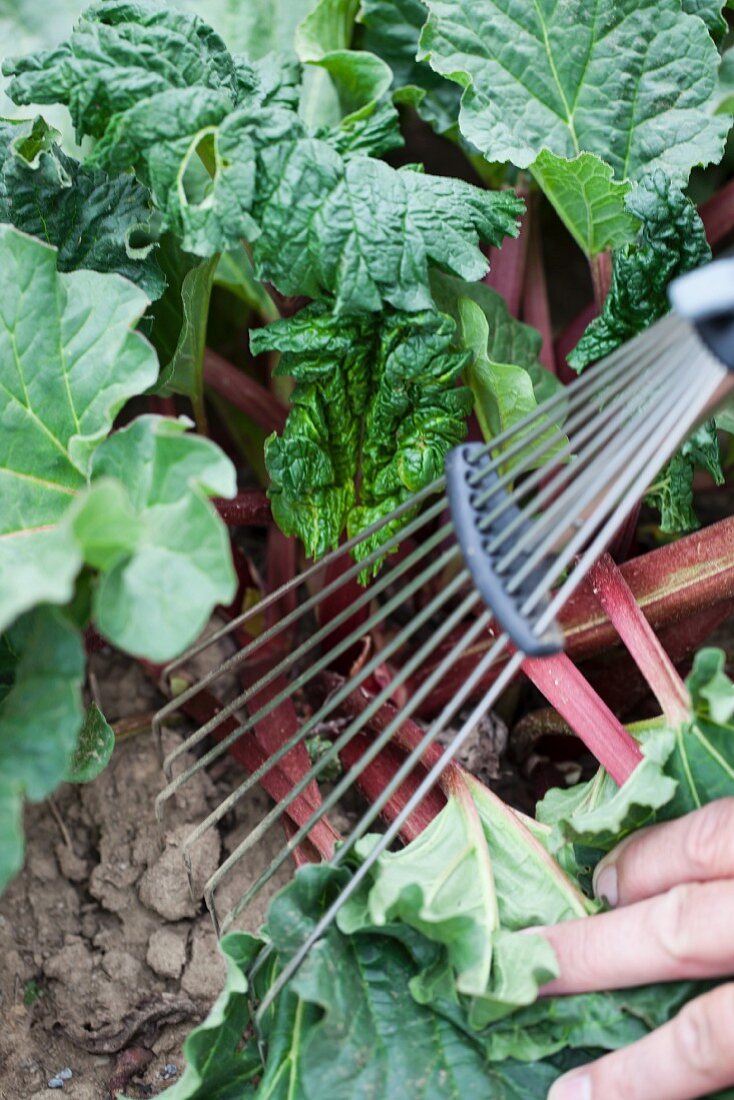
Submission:
[[[689,883],[634,905],[548,925],[560,977],[543,993],[626,989],[734,972],[734,881]]]

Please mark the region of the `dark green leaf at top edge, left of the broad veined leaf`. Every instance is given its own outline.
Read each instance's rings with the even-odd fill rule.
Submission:
[[[362,0],[362,46],[382,57],[393,73],[398,102],[415,107],[438,133],[454,130],[461,91],[451,80],[418,62],[418,38],[428,18],[421,0]]]

